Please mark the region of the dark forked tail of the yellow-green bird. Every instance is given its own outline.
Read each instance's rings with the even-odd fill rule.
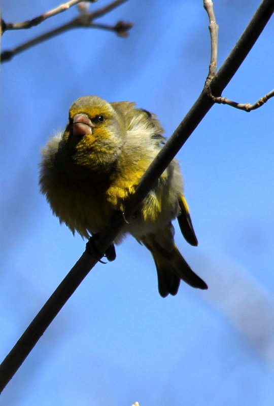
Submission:
[[[142,239],[142,242],[152,253],[157,269],[158,289],[163,298],[168,293],[175,295],[178,292],[181,279],[190,286],[199,289],[208,288],[207,284],[186,263],[174,242],[171,249],[167,251],[158,246],[156,238],[150,235]]]

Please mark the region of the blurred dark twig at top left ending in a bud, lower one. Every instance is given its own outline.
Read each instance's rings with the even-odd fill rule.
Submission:
[[[96,0],[94,0],[94,1],[96,1]],[[104,24],[95,24],[92,21],[95,18],[99,18],[99,17],[105,15],[109,11],[113,10],[115,7],[118,7],[122,3],[125,3],[127,1],[128,0],[115,0],[114,2],[110,3],[108,6],[103,7],[94,12],[91,12],[91,13],[88,13],[86,11],[80,12],[80,14],[77,17],[73,18],[70,22],[60,25],[59,27],[48,31],[45,34],[38,35],[35,38],[33,38],[32,40],[29,40],[29,41],[19,45],[18,47],[3,51],[1,54],[1,60],[2,60],[2,62],[7,62],[14,55],[17,55],[19,52],[25,51],[26,49],[33,47],[33,45],[40,44],[43,41],[46,41],[55,35],[58,35],[62,32],[68,31],[73,28],[80,28],[80,27],[102,28],[102,29],[107,29],[109,31],[116,32],[119,36],[122,36],[125,38],[126,36],[128,36],[128,30],[133,26],[133,24],[131,22],[118,21],[116,23],[116,25],[109,26],[109,25],[104,25]]]

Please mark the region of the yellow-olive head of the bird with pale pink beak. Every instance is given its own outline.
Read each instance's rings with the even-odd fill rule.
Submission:
[[[125,134],[124,118],[110,103],[83,96],[70,107],[60,146],[74,165],[105,172],[117,160]]]

